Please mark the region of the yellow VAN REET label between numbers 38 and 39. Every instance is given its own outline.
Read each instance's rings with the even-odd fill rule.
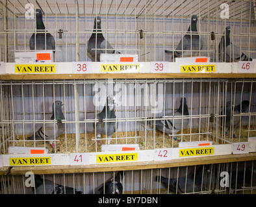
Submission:
[[[140,64],[101,64],[101,72],[139,72]]]

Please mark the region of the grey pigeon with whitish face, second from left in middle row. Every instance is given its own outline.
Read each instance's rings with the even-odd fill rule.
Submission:
[[[104,106],[101,113],[97,114],[97,118],[99,119],[99,122],[93,123],[94,129],[96,128],[97,138],[101,138],[101,135],[107,135],[107,138],[112,138],[112,135],[116,132],[116,127],[118,127],[118,123],[116,125],[115,122],[103,122],[103,120],[106,119],[114,119],[116,118],[116,114],[114,111],[114,106],[116,104],[116,100],[114,99],[114,96],[110,95],[107,97],[106,105]],[[108,144],[110,144],[110,139],[108,140]],[[98,140],[99,144],[101,143]]]

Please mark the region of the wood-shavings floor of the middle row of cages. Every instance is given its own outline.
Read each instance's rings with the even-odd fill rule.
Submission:
[[[209,140],[212,141],[212,144],[227,144],[228,142],[247,142],[248,141],[248,129],[242,128],[241,131],[237,129],[235,133],[235,138],[229,138],[229,131],[227,131],[227,135],[219,136],[218,138],[214,136],[214,134],[198,134],[197,129],[192,129],[192,133],[190,134],[190,129],[183,129],[183,134],[181,135],[181,131],[177,133],[176,136],[168,136],[159,131],[155,131],[155,135],[153,135],[153,131],[139,131],[137,133],[134,132],[121,132],[112,136],[110,144],[138,144],[141,150],[144,149],[155,149],[155,148],[170,148],[170,147],[178,147],[179,141],[182,142],[190,142],[190,141],[203,141]],[[203,131],[200,131],[203,133]],[[240,138],[239,137],[240,134]],[[146,136],[145,136],[146,135]],[[128,137],[127,137],[128,136]],[[131,137],[129,137],[131,136]],[[153,137],[155,136],[155,140]],[[250,136],[256,136],[256,131],[250,132]],[[127,138],[125,138],[127,137]],[[164,138],[163,138],[164,137]],[[177,137],[177,140],[174,138]],[[101,144],[99,144],[95,138],[94,133],[87,133],[86,138],[85,134],[80,135],[79,140],[79,153],[90,153],[90,152],[99,152],[101,151],[101,144],[107,144],[106,140],[101,140]],[[105,138],[105,136],[102,136]],[[62,135],[57,138],[57,153],[75,153],[76,152],[76,141],[75,134]],[[179,141],[178,141],[179,140]],[[225,140],[227,142],[225,142]],[[53,147],[50,146],[49,142],[44,141],[34,141],[31,140],[23,140],[23,138],[19,137],[15,141],[10,141],[10,146],[19,146],[19,147],[46,147],[48,149],[48,153],[55,153]],[[96,149],[97,148],[97,149]]]

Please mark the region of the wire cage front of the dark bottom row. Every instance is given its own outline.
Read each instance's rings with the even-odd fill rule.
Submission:
[[[94,173],[3,175],[0,193],[255,194],[255,160]],[[31,173],[32,175],[32,173]],[[120,179],[118,175],[122,175]],[[110,183],[120,183],[109,191]]]

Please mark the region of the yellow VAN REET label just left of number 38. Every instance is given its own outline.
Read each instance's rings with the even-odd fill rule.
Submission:
[[[44,65],[44,64],[34,64],[25,65],[19,64],[15,65],[16,73],[45,73],[45,72],[56,72],[56,66],[54,64]]]

